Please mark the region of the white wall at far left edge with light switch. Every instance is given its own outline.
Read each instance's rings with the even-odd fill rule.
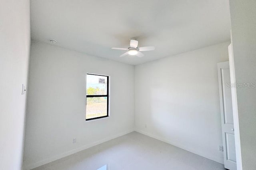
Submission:
[[[0,170],[20,170],[22,163],[30,52],[29,0],[0,2]]]

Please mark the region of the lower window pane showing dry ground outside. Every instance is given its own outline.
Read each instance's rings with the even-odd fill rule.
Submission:
[[[86,98],[86,119],[107,116],[107,97]]]

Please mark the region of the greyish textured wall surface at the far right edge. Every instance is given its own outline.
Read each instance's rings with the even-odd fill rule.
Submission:
[[[256,167],[256,87],[253,86],[256,83],[255,9],[255,0],[230,0],[241,146],[239,158],[242,158],[242,161],[237,160],[238,170],[254,170]],[[246,84],[250,86],[245,86]],[[236,130],[238,129],[235,132]]]

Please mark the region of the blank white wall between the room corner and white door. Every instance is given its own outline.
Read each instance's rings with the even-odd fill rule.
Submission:
[[[225,42],[135,66],[135,129],[223,163],[217,63]]]

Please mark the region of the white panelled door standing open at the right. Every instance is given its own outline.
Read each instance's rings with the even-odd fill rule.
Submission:
[[[229,170],[236,170],[234,120],[232,111],[230,70],[228,61],[218,63],[218,78],[220,90],[220,112],[224,166]]]

